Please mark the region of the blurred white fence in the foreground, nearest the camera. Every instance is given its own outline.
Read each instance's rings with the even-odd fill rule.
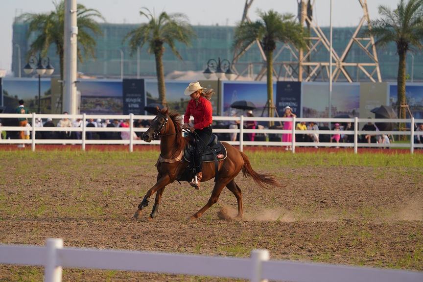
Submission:
[[[61,282],[62,267],[155,272],[292,282],[422,282],[423,272],[269,260],[268,250],[250,258],[64,248],[62,239],[46,246],[0,245],[0,263],[44,266],[45,282]]]

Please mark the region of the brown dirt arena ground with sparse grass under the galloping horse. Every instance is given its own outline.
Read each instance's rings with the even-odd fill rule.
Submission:
[[[135,151],[141,160],[139,146]],[[271,259],[423,271],[421,167],[297,167],[286,154],[284,164],[252,162],[260,173],[271,167],[286,188],[262,189],[237,176],[241,221],[225,219],[236,214],[229,190],[199,219],[186,220],[207,202],[212,181],[201,190],[174,183],[164,191],[156,219],[146,220],[151,202],[141,220],[133,220],[156,179],[154,159],[88,158],[75,164],[57,152],[27,164],[1,159],[0,243],[44,245],[47,238],[63,238],[65,247],[236,257],[268,249]],[[0,282],[42,280],[41,267],[0,265]],[[242,281],[87,269],[63,273],[63,281],[141,280]]]

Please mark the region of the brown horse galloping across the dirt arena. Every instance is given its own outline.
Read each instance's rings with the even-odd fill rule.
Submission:
[[[134,217],[138,218],[141,211],[147,207],[150,196],[155,192],[156,198],[154,201],[153,210],[151,211],[148,219],[155,218],[159,208],[160,199],[162,198],[164,188],[166,185],[176,181],[189,181],[191,179],[192,172],[189,177],[184,178],[184,173],[188,166],[188,162],[182,156],[184,148],[189,142],[188,137],[182,136],[182,116],[174,111],[169,112],[167,108],[160,110],[157,108],[158,115],[152,120],[148,130],[142,135],[142,138],[146,142],[151,142],[154,138],[161,136],[160,141],[160,156],[157,161],[157,175],[156,184],[147,191],[138,206],[138,210],[135,212]],[[236,218],[242,218],[244,211],[242,208],[242,191],[235,183],[235,176],[242,169],[242,173],[245,177],[251,176],[254,181],[263,188],[267,188],[266,185],[283,187],[276,179],[270,174],[259,174],[251,167],[248,157],[228,144],[227,142],[221,142],[226,148],[227,157],[224,160],[220,160],[218,163],[218,174],[215,175],[215,164],[213,162],[203,163],[203,178],[202,182],[208,181],[215,177],[215,184],[211,196],[207,204],[199,211],[191,215],[190,219],[200,217],[203,212],[207,211],[214,203],[219,199],[219,195],[223,188],[226,186],[232,193],[234,193],[238,202],[238,214]]]

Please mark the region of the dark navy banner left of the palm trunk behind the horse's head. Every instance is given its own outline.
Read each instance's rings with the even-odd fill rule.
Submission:
[[[145,115],[144,79],[123,79],[123,115]]]

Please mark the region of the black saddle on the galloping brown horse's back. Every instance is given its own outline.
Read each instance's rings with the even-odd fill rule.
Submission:
[[[195,145],[198,141],[192,140],[188,143],[183,151],[183,156],[185,161],[188,163],[192,162],[192,158],[194,156]],[[215,134],[211,135],[210,141],[207,144],[207,149],[203,153],[201,159],[203,163],[211,163],[214,162],[214,182],[216,182],[216,178],[218,175],[218,165],[219,161],[226,159],[228,156],[228,152],[226,151],[225,146],[220,141],[217,141],[217,136]],[[187,166],[189,170],[189,165]]]

